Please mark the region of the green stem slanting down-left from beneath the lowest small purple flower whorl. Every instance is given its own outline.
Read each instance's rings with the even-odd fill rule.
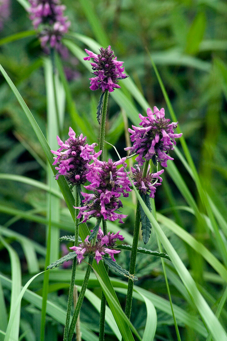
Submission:
[[[75,329],[75,326],[76,326],[77,317],[79,315],[80,308],[81,308],[82,302],[84,300],[84,295],[85,295],[85,292],[86,292],[86,289],[87,289],[87,286],[88,286],[88,280],[89,280],[89,276],[90,276],[90,273],[91,273],[92,263],[93,263],[93,256],[89,256],[88,266],[87,266],[87,270],[86,270],[86,273],[85,273],[85,278],[84,278],[84,281],[83,281],[82,286],[81,286],[80,294],[79,294],[79,297],[78,297],[78,301],[76,303],[76,308],[74,310],[72,322],[71,322],[70,329],[69,329],[68,341],[71,341],[72,337],[73,337],[73,332],[74,332],[74,329]]]

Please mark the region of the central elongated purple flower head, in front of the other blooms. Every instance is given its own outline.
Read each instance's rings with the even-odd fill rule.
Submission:
[[[123,207],[119,197],[122,194],[128,196],[131,191],[130,181],[124,172],[123,166],[117,168],[118,165],[126,166],[125,158],[113,162],[109,159],[108,162],[97,160],[96,156],[92,156],[94,162],[90,165],[89,172],[86,177],[91,184],[85,186],[86,189],[93,193],[82,193],[85,197],[83,200],[84,206],[80,207],[80,212],[77,218],[84,216],[83,222],[86,222],[90,217],[103,217],[105,220],[115,221],[119,219],[123,223],[122,218],[126,218],[125,214],[119,214],[115,211]],[[76,207],[79,208],[79,207]]]

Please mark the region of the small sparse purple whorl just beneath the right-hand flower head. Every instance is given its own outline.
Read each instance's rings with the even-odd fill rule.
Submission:
[[[164,172],[164,169],[160,170],[157,173],[150,173],[150,165],[148,166],[147,175],[143,176],[143,170],[141,167],[136,165],[136,168],[131,167],[132,169],[132,180],[135,187],[140,191],[140,194],[147,194],[150,192],[150,197],[154,198],[154,193],[156,191],[156,187],[161,185],[162,178],[160,175]],[[159,179],[160,182],[155,182],[154,180]]]

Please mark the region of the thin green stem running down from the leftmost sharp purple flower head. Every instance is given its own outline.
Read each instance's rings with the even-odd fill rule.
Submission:
[[[75,206],[79,206],[79,189],[77,186],[75,186]],[[78,222],[79,220],[76,219],[76,217],[79,214],[79,209],[75,209],[75,242],[74,246],[78,246],[78,237],[79,237],[79,226]],[[65,320],[65,329],[64,329],[64,336],[63,341],[68,340],[68,334],[69,334],[69,323],[70,323],[70,316],[71,316],[71,309],[72,309],[72,302],[73,302],[73,289],[75,284],[75,276],[76,276],[76,263],[77,263],[77,257],[73,260],[73,266],[72,266],[72,276],[71,276],[71,282],[70,282],[70,290],[69,290],[69,298],[68,298],[68,304],[67,304],[67,311],[66,311],[66,320]]]

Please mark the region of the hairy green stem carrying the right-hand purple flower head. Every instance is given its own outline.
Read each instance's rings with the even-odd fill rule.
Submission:
[[[149,161],[146,161],[143,167],[143,176],[147,174],[149,166]],[[140,226],[140,212],[139,212],[139,201],[137,199],[136,205],[136,218],[135,218],[135,226],[133,232],[133,244],[132,244],[132,253],[130,260],[130,268],[129,272],[131,275],[135,275],[136,270],[136,255],[137,255],[137,247],[139,241],[139,226]],[[126,306],[125,306],[125,315],[130,318],[131,309],[132,309],[132,297],[133,297],[133,285],[134,282],[131,279],[128,279],[128,290],[127,290],[127,298],[126,298]]]

